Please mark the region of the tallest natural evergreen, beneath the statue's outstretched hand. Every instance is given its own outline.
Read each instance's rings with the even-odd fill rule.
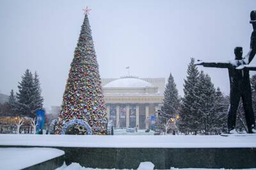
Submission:
[[[195,132],[195,118],[193,115],[198,113],[198,96],[196,94],[196,83],[198,82],[198,69],[195,66],[195,59],[191,58],[188,66],[186,80],[184,80],[184,97],[182,98],[180,111],[180,131],[188,133]],[[198,124],[196,122],[196,124]]]

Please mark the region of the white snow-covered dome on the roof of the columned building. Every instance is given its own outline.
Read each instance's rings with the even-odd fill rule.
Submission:
[[[140,78],[134,78],[131,76],[123,77],[118,80],[114,80],[104,85],[104,87],[108,88],[145,88],[145,87],[154,87],[151,83],[147,81],[141,80]]]

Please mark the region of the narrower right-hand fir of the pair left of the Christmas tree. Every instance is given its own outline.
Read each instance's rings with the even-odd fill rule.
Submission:
[[[43,108],[44,98],[41,96],[42,90],[40,87],[39,77],[36,72],[35,72],[35,76],[33,78],[33,87],[34,87],[33,90],[35,90],[35,95],[34,95],[35,108],[33,108],[33,110],[40,110]]]

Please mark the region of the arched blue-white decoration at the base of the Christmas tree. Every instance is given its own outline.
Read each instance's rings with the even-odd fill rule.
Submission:
[[[92,129],[84,120],[72,119],[63,125],[61,134],[92,134]]]

